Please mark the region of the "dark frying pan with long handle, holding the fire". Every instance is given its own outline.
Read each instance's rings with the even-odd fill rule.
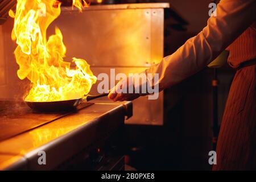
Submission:
[[[46,111],[46,112],[53,112],[53,111],[67,111],[76,109],[82,102],[92,101],[96,98],[108,96],[108,93],[99,94],[96,96],[87,95],[85,98],[77,98],[73,100],[66,100],[66,101],[50,101],[50,102],[30,102],[25,101],[28,106],[30,106],[33,110],[38,111]]]

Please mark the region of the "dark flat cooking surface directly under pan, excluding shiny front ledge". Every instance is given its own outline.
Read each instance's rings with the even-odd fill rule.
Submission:
[[[14,137],[68,114],[76,113],[93,103],[82,103],[76,110],[61,113],[40,113],[30,109],[24,102],[0,101],[0,142]]]

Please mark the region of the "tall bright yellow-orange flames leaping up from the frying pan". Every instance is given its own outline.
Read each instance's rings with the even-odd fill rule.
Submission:
[[[80,10],[88,6],[84,0],[73,0],[73,6]],[[76,69],[63,60],[66,48],[61,31],[48,38],[46,31],[60,15],[60,2],[55,0],[18,0],[16,13],[10,10],[14,19],[12,39],[19,64],[18,77],[28,78],[32,88],[26,101],[60,101],[81,98],[88,94],[97,80],[85,60],[73,58]]]

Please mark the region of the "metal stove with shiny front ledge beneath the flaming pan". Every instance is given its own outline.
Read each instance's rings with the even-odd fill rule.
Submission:
[[[73,156],[84,158],[99,148],[132,115],[132,102],[91,102],[71,113],[51,114],[35,113],[24,103],[0,102],[0,169],[65,166]],[[47,165],[38,164],[40,151],[46,152]]]

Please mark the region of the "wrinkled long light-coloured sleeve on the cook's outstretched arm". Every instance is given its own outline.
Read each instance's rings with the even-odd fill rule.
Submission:
[[[164,57],[146,73],[159,73],[159,89],[172,86],[203,69],[255,21],[255,0],[222,0],[217,16],[185,42],[175,53]]]

